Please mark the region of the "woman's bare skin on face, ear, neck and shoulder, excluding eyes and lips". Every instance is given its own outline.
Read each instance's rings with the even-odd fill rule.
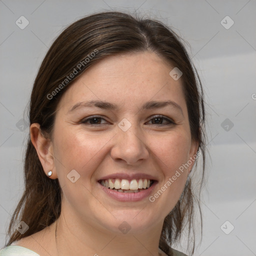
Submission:
[[[182,80],[172,79],[171,67],[155,53],[110,56],[87,69],[62,95],[57,107],[51,139],[30,126],[31,141],[45,174],[58,178],[63,191],[61,214],[38,233],[19,241],[40,255],[158,255],[158,241],[164,217],[174,207],[184,188],[193,162],[157,198],[136,202],[117,201],[99,189],[100,177],[116,173],[146,173],[157,178],[152,194],[166,184],[175,171],[195,155],[191,139]],[[87,100],[105,100],[119,109],[80,107]],[[172,100],[171,105],[140,110],[149,101]],[[98,115],[98,124],[81,123]],[[153,115],[163,115],[158,124]],[[118,127],[126,118],[127,131]],[[161,121],[161,119],[160,119]],[[95,123],[95,121],[94,121]],[[80,177],[72,183],[66,177],[75,169]],[[126,221],[130,230],[118,226]]]

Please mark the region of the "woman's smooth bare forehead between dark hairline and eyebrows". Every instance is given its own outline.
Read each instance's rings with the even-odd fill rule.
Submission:
[[[108,56],[89,67],[65,91],[64,108],[94,99],[128,106],[148,100],[173,100],[184,104],[181,79],[169,72],[173,66],[152,52]]]

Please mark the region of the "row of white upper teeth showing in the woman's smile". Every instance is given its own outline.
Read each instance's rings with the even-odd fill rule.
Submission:
[[[150,185],[150,179],[147,178],[140,178],[138,180],[132,179],[119,179],[119,178],[108,178],[102,179],[100,181],[101,185],[105,187],[109,187],[110,189],[130,189],[130,190],[137,190],[139,188],[148,188]]]

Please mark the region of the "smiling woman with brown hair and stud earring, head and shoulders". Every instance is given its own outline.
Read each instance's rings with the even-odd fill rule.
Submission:
[[[184,228],[193,242],[203,122],[168,27],[121,12],[75,21],[34,81],[25,191],[0,255],[184,255],[171,246]]]

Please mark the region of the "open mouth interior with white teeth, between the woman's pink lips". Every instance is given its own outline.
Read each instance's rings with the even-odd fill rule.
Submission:
[[[119,179],[108,178],[100,179],[98,182],[108,189],[123,192],[123,193],[137,193],[150,187],[156,180],[139,178],[139,179]]]

